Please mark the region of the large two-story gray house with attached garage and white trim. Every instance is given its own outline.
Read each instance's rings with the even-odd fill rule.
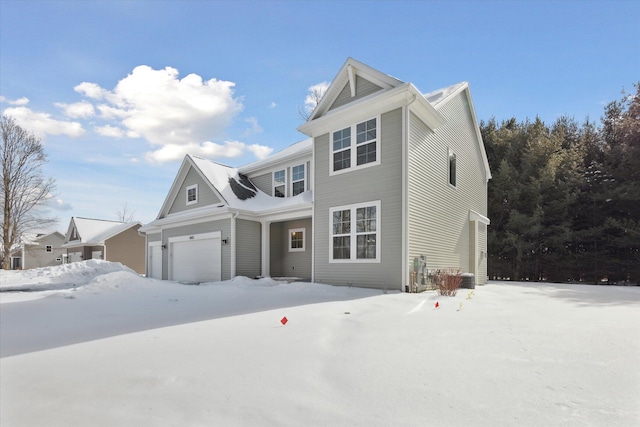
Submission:
[[[406,290],[454,267],[486,282],[491,173],[467,83],[422,94],[349,58],[298,130],[310,138],[240,168],[187,155],[140,229],[147,274]]]

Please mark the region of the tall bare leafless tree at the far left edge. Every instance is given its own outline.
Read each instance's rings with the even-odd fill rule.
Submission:
[[[30,230],[45,228],[55,223],[48,218],[44,206],[55,188],[53,179],[42,177],[42,166],[47,162],[40,138],[20,127],[13,118],[0,118],[2,147],[2,242],[0,265],[8,270],[11,249]]]

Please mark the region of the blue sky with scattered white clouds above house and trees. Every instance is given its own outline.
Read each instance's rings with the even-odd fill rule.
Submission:
[[[0,109],[42,137],[51,211],[153,220],[184,153],[231,166],[304,139],[347,57],[478,120],[599,121],[640,80],[638,1],[0,1]]]

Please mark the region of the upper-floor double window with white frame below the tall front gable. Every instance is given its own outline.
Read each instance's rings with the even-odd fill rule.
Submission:
[[[356,136],[355,144],[352,143],[352,135]],[[378,118],[332,132],[331,147],[332,173],[378,164]],[[355,159],[355,164],[352,159]]]

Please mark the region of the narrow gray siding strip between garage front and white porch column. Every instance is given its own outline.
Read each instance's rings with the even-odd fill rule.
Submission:
[[[261,272],[261,224],[236,220],[236,275],[256,277]]]

